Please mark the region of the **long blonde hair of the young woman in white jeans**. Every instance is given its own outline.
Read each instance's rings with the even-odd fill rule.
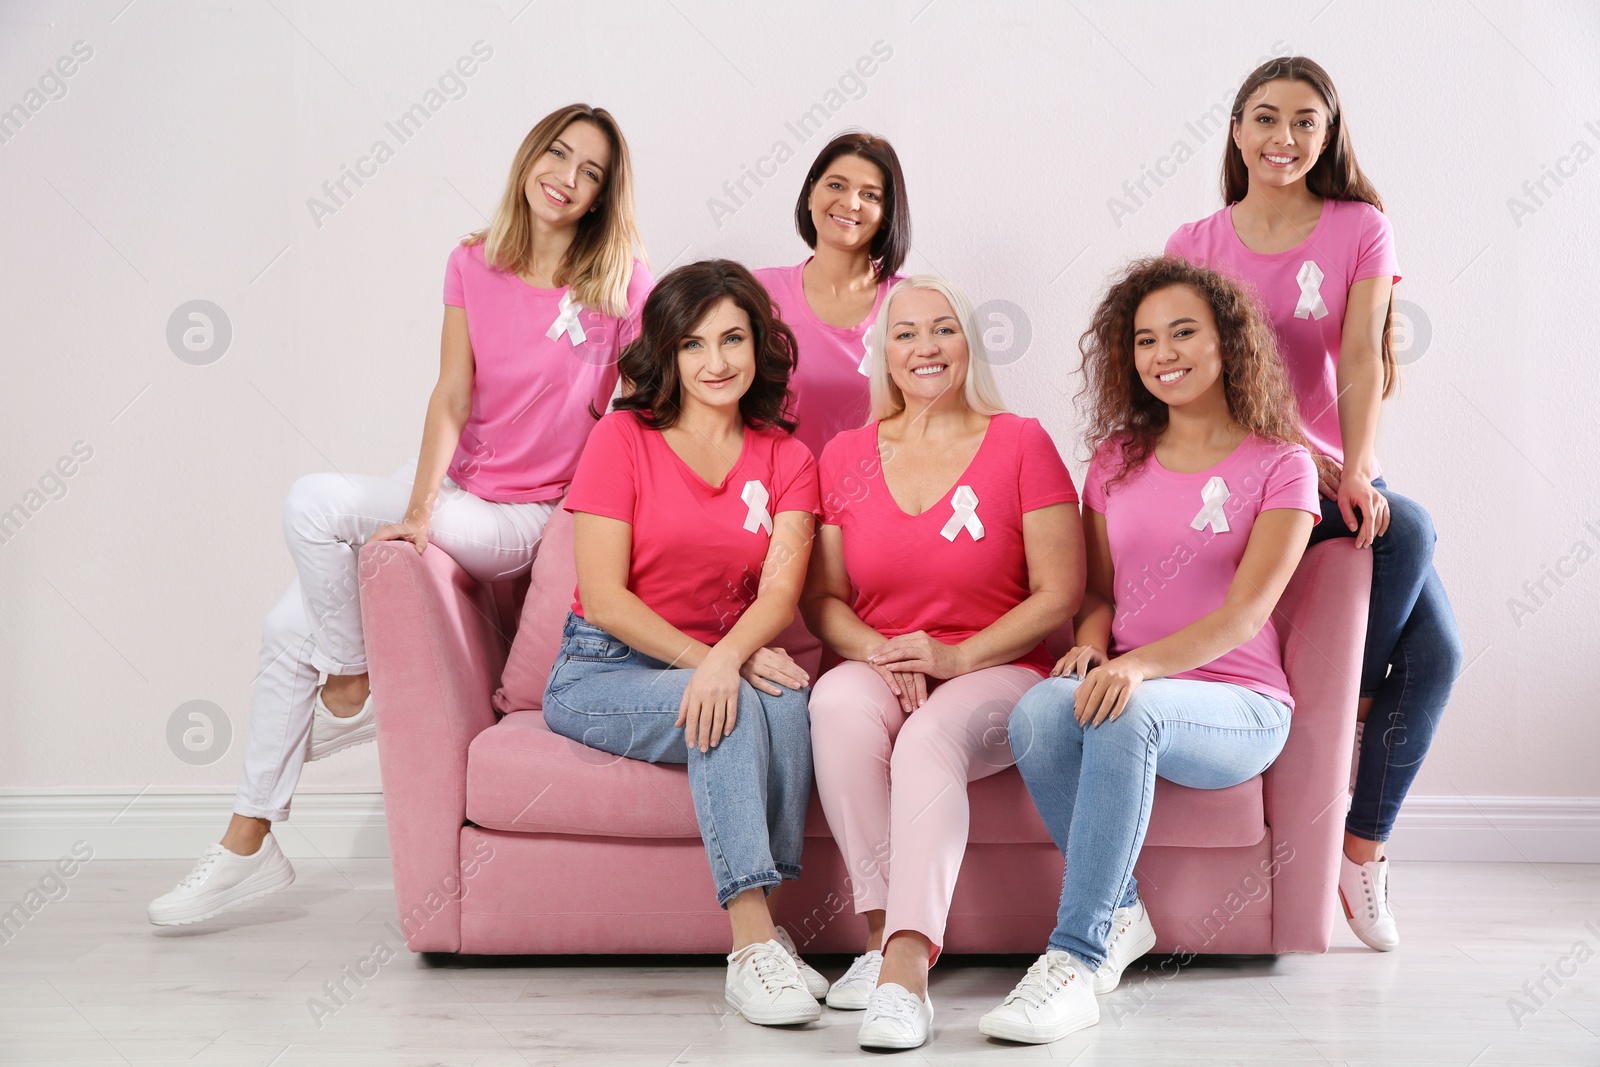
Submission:
[[[533,211],[528,208],[528,171],[544,158],[550,144],[574,122],[592,123],[611,142],[611,166],[595,210],[578,221],[578,237],[555,272],[555,285],[573,290],[573,299],[603,315],[627,314],[627,283],[634,275],[634,254],[643,259],[638,226],[634,219],[634,168],[627,158],[627,141],[616,120],[603,107],[568,104],[541,118],[517,149],[506,179],[494,221],[464,245],[483,243],[483,261],[499,270],[522,274],[533,258]]]

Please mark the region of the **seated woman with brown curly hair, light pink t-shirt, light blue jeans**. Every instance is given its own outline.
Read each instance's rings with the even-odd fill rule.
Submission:
[[[1077,646],[1011,713],[1011,750],[1066,856],[1045,953],[979,1021],[1054,1041],[1155,944],[1133,878],[1155,776],[1226,789],[1290,731],[1272,608],[1318,520],[1272,326],[1222,275],[1142,259],[1083,334],[1094,458]]]

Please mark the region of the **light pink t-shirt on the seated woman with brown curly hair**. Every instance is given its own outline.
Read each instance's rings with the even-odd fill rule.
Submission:
[[[1110,542],[1112,656],[1221,608],[1261,512],[1290,507],[1322,518],[1317,467],[1299,445],[1250,435],[1227,459],[1195,474],[1168,470],[1152,453],[1107,488],[1120,469],[1120,438],[1112,438],[1094,450],[1083,475],[1083,507],[1106,517]],[[1171,677],[1232,681],[1294,707],[1272,619],[1238,648]]]

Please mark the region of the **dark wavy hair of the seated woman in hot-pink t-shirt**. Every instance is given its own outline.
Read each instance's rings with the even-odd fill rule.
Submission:
[[[634,411],[653,430],[674,426],[682,413],[678,342],[723,299],[731,299],[750,317],[755,381],[739,397],[744,424],[752,429],[776,426],[794,434],[789,379],[800,347],[762,283],[731,259],[691,262],[656,282],[645,301],[638,338],[618,362],[626,395],[613,406]]]

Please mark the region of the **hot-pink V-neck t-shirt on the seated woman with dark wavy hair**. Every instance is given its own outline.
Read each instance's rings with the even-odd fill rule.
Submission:
[[[627,589],[690,637],[715,645],[755,601],[781,512],[818,512],[816,459],[776,429],[746,427],[722,485],[683,462],[632,411],[595,424],[563,504],[634,526]],[[573,592],[573,611],[584,605]]]

